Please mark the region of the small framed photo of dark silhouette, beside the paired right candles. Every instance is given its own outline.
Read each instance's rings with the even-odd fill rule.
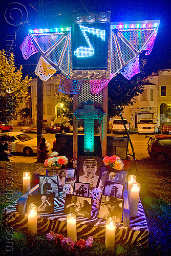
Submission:
[[[124,184],[106,180],[104,183],[103,195],[123,198]]]

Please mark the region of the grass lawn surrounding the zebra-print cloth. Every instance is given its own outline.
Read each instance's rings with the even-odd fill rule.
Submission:
[[[23,172],[28,171],[32,175],[39,167],[44,167],[44,164],[0,162],[1,222],[3,209],[22,195]],[[140,198],[149,228],[148,248],[116,244],[115,250],[106,250],[104,244],[97,239],[89,249],[77,249],[67,253],[52,241],[47,241],[46,237],[28,238],[27,233],[15,231],[13,233],[14,251],[10,252],[10,255],[171,255],[170,168],[168,166],[154,168],[149,163],[138,163],[138,169],[139,175],[136,174],[134,167],[129,170],[129,175],[135,174],[137,182],[140,183]],[[11,202],[5,200],[4,194],[8,183],[7,177],[13,178]],[[0,255],[8,255],[5,249],[6,239],[6,230],[1,225]]]

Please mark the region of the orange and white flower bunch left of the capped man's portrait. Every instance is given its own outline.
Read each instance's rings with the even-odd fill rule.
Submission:
[[[45,160],[46,167],[61,167],[62,164],[67,165],[68,158],[65,156],[58,156],[58,152],[53,152],[48,159]]]

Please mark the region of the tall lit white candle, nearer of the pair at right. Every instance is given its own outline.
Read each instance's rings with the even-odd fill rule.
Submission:
[[[131,185],[131,194],[130,194],[131,217],[136,217],[138,214],[139,194],[140,194],[140,184],[138,182],[133,182]]]

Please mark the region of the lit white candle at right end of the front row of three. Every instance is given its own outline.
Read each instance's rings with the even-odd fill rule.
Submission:
[[[114,217],[108,218],[105,224],[105,247],[113,249],[115,247],[116,221]]]

